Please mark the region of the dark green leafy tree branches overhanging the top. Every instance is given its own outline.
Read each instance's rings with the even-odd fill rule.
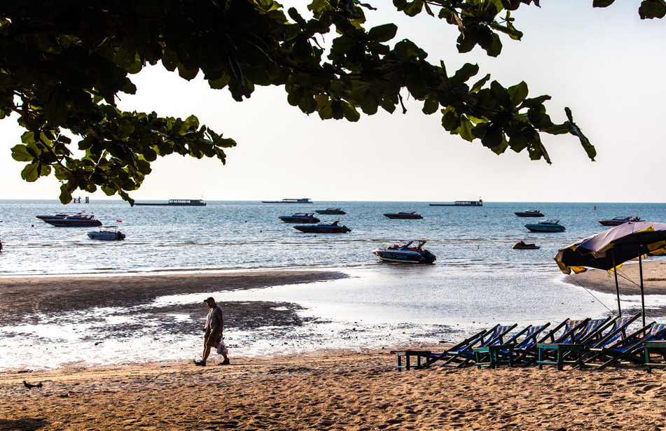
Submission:
[[[385,5],[382,2],[382,6]],[[427,13],[459,29],[457,47],[501,52],[499,34],[520,39],[511,10],[539,0],[394,0],[406,15]],[[613,0],[594,0],[605,7]],[[378,5],[375,5],[378,6]],[[217,157],[235,146],[192,115],[186,120],[116,108],[121,92],[133,94],[129,75],[158,64],[191,80],[202,73],[211,88],[233,99],[256,85],[280,85],[287,101],[322,119],[358,121],[361,112],[404,110],[403,97],[422,101],[425,114],[440,113],[443,127],[467,141],[478,139],[501,154],[527,150],[550,162],[540,134],[574,134],[590,159],[595,148],[567,108],[555,124],[543,95],[528,97],[527,84],[504,87],[465,64],[447,71],[404,39],[389,43],[395,24],[364,29],[369,4],[312,0],[312,17],[272,0],[6,1],[0,6],[0,118],[18,114],[26,129],[12,157],[26,162],[22,178],[55,174],[60,200],[74,190],[106,195],[136,190],[151,162],[173,153]],[[644,0],[642,18],[663,17],[663,0]],[[330,47],[321,36],[333,33]],[[78,136],[74,155],[69,131]],[[82,154],[82,155],[81,155]]]

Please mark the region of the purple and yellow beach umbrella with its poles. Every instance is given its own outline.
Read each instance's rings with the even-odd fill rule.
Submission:
[[[571,271],[578,274],[590,268],[617,269],[620,264],[638,257],[641,278],[641,306],[645,325],[645,295],[643,288],[643,260],[646,253],[666,253],[666,223],[626,222],[611,227],[599,234],[576,241],[564,247],[555,255],[555,262],[564,274]],[[618,294],[618,313],[620,309],[620,288],[618,274],[615,272],[615,286]]]

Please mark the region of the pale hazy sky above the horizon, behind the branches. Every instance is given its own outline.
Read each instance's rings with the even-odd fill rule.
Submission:
[[[285,1],[302,6],[305,2]],[[211,90],[155,66],[131,76],[137,94],[120,94],[125,111],[155,111],[186,118],[235,139],[226,165],[172,155],[152,164],[137,200],[262,200],[309,197],[317,201],[665,202],[660,174],[666,167],[662,119],[666,105],[666,20],[640,20],[639,0],[592,8],[592,0],[543,0],[541,8],[513,13],[522,41],[503,37],[497,58],[475,48],[459,54],[457,30],[436,18],[405,17],[389,1],[370,1],[366,29],[396,22],[393,43],[415,41],[442,59],[448,71],[479,64],[504,87],[525,80],[529,97],[549,94],[554,122],[574,120],[597,148],[591,162],[571,135],[542,135],[553,164],[527,152],[495,155],[467,142],[408,101],[408,113],[361,115],[359,122],[319,119],[286,102],[282,87],[257,87],[242,103],[228,90]],[[305,15],[306,11],[303,11]],[[331,36],[328,36],[331,37]],[[476,79],[472,78],[471,82]],[[25,183],[24,164],[11,158],[22,129],[0,121],[0,199],[57,199],[55,178]],[[102,192],[74,192],[91,199]]]

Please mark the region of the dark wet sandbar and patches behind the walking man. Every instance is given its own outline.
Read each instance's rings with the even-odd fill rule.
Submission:
[[[263,288],[345,278],[338,271],[247,271],[224,274],[171,274],[141,276],[81,276],[0,278],[0,325],[20,323],[32,313],[62,313],[92,307],[131,307],[151,302],[162,295]],[[284,312],[273,310],[282,306]],[[203,307],[205,309],[205,307]],[[244,325],[279,325],[295,318],[296,304],[231,302],[224,304],[228,316]],[[200,316],[202,304],[153,308],[155,318],[165,313]]]

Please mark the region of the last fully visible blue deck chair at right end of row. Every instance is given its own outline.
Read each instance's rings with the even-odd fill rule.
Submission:
[[[646,341],[666,341],[666,325],[650,323],[629,336],[619,339],[611,346],[590,348],[590,355],[584,361],[585,367],[606,368],[625,360],[634,364],[644,364],[643,345]],[[604,361],[600,365],[595,361]]]

